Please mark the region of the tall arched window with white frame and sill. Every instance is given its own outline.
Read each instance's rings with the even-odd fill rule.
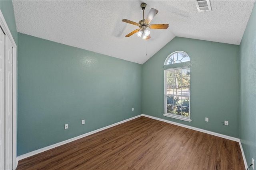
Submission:
[[[164,116],[191,121],[190,57],[176,51],[168,55],[164,65]]]

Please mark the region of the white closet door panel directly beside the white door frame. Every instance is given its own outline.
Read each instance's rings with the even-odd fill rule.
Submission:
[[[13,47],[6,37],[4,65],[4,169],[12,170],[12,59]]]

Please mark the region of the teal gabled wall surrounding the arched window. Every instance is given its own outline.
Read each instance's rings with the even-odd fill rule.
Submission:
[[[164,61],[174,51],[190,56],[191,122],[165,117]],[[175,37],[142,69],[142,113],[238,137],[239,46]],[[205,117],[209,122],[205,122]],[[222,125],[225,120],[229,126]]]

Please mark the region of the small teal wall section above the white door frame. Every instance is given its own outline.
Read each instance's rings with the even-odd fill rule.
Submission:
[[[0,9],[4,16],[4,20],[6,21],[8,28],[10,29],[10,31],[12,33],[12,37],[17,45],[18,33],[17,33],[17,29],[16,29],[12,1],[11,0],[0,0]]]

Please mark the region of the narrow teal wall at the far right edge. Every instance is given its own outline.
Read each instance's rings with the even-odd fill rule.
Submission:
[[[240,141],[248,166],[256,163],[256,5],[240,43]],[[256,167],[256,166],[255,166]],[[250,168],[252,170],[252,168]]]

